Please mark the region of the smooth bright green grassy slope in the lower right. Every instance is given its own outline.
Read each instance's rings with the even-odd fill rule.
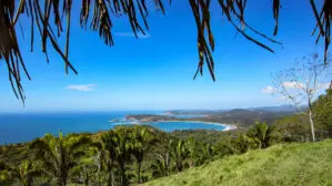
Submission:
[[[252,151],[145,185],[332,186],[332,140],[314,144],[275,145],[264,151]]]

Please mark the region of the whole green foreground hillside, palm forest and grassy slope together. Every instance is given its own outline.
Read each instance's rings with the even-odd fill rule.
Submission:
[[[313,104],[318,143],[308,143],[305,115],[228,132],[131,125],[46,134],[0,146],[0,185],[331,185],[331,95]]]

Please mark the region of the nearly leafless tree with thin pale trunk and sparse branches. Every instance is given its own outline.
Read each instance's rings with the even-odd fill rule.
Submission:
[[[273,74],[274,94],[281,95],[292,103],[299,113],[309,116],[313,141],[315,137],[312,103],[323,85],[331,80],[329,66],[319,60],[318,54],[312,54],[296,61],[293,68]],[[308,107],[306,112],[303,111],[303,106]]]

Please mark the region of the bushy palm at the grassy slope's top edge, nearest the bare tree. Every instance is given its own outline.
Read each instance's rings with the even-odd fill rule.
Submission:
[[[269,126],[266,123],[255,123],[249,131],[250,136],[259,146],[259,148],[266,148],[278,138],[275,135],[275,127]]]

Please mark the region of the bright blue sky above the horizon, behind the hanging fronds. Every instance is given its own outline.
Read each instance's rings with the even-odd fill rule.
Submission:
[[[272,1],[249,1],[247,20],[271,35],[274,21]],[[271,72],[290,66],[294,59],[323,52],[311,37],[314,18],[309,2],[282,1],[280,30],[275,38],[283,46],[272,45],[272,54],[245,40],[212,4],[215,38],[217,82],[205,71],[192,80],[197,70],[197,30],[187,1],[172,1],[167,14],[148,17],[149,34],[134,39],[125,18],[113,19],[115,45],[109,48],[98,33],[79,28],[79,12],[73,12],[70,60],[79,75],[64,74],[62,60],[50,50],[50,63],[36,41],[33,53],[21,40],[22,54],[32,76],[23,81],[26,107],[16,100],[0,62],[0,112],[114,111],[171,108],[232,108],[283,104],[262,90],[271,84]],[[29,24],[27,24],[29,25]],[[50,46],[51,49],[51,46]]]

